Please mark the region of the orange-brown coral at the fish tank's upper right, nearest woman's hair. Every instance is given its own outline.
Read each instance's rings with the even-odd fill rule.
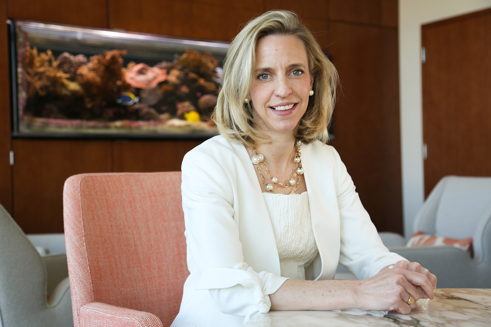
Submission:
[[[186,49],[186,53],[179,56],[174,65],[179,70],[189,70],[207,81],[217,76],[215,68],[218,61],[208,52],[201,54],[195,50]]]

